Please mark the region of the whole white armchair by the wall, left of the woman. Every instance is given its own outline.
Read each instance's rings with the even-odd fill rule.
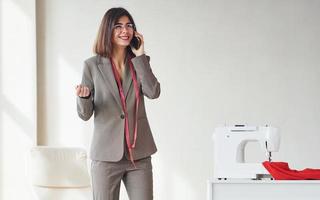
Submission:
[[[37,146],[29,176],[38,200],[92,200],[87,153],[81,148]]]

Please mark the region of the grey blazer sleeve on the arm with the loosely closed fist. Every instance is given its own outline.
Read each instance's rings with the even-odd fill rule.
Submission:
[[[81,85],[89,88],[90,96],[88,98],[77,97],[77,111],[79,117],[87,121],[93,114],[94,87],[89,65],[86,62],[84,62]]]

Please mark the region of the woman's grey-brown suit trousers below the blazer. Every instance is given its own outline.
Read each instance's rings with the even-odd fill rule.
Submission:
[[[151,156],[135,161],[125,157],[118,162],[92,160],[91,176],[94,200],[119,200],[123,181],[130,200],[152,200]]]

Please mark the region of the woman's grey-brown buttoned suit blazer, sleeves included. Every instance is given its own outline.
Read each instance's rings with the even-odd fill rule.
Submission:
[[[149,60],[150,58],[146,55],[131,60],[141,93],[138,136],[133,151],[135,160],[150,156],[157,151],[145,110],[144,96],[150,99],[158,98],[160,83],[152,73]],[[122,85],[126,96],[131,141],[133,141],[135,92],[129,63],[126,62],[125,65],[126,71]],[[91,159],[119,161],[123,155],[129,159],[124,135],[124,113],[110,60],[99,55],[87,59],[84,62],[81,84],[89,87],[91,91],[90,98],[77,97],[79,117],[86,121],[94,114]]]

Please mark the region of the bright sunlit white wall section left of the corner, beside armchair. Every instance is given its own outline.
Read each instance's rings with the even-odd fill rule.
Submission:
[[[0,1],[0,199],[32,199],[26,161],[36,143],[35,1]]]

